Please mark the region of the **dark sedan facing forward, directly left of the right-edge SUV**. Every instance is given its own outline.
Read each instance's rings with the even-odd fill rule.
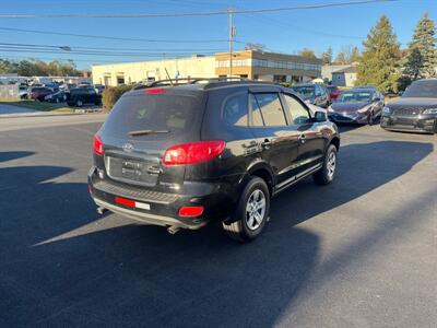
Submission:
[[[330,120],[373,125],[381,115],[385,98],[373,86],[343,91],[328,108]]]

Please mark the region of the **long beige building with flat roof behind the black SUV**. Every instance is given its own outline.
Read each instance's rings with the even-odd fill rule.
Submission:
[[[228,77],[229,54],[93,66],[93,83],[130,84],[179,78]],[[271,82],[306,82],[321,77],[321,60],[256,50],[233,54],[232,75]]]

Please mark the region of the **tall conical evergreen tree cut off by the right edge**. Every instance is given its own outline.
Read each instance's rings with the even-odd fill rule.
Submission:
[[[410,79],[430,78],[436,75],[437,51],[435,24],[425,12],[414,30],[413,39],[409,44],[404,74]]]

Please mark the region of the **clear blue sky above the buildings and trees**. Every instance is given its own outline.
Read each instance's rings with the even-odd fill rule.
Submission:
[[[43,60],[72,59],[80,69],[93,63],[143,61],[153,58],[184,57],[189,54],[227,51],[227,15],[189,17],[2,17],[4,14],[141,14],[192,13],[299,7],[357,0],[19,0],[0,7],[0,58]],[[402,47],[406,47],[417,21],[427,11],[437,20],[436,0],[399,0],[392,2],[235,14],[236,49],[244,43],[258,43],[265,50],[296,54],[310,48],[317,55],[332,47],[334,55],[349,46],[362,47],[378,19],[388,15]],[[51,33],[82,34],[130,38],[102,39],[66,35],[17,32],[2,28],[33,30]],[[137,39],[137,40],[132,40]],[[153,39],[157,42],[146,42]],[[163,42],[166,40],[166,42]],[[196,42],[194,42],[196,40]],[[32,45],[17,51],[14,45]],[[35,51],[33,45],[51,48]],[[70,47],[82,55],[61,50]],[[79,47],[79,48],[78,48]],[[68,49],[68,48],[67,48]],[[43,51],[56,51],[46,54]],[[115,56],[117,54],[117,56]]]

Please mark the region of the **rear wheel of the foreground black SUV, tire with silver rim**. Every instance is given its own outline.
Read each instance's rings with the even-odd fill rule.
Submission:
[[[263,203],[264,206],[256,209],[252,207],[256,203],[259,206]],[[223,222],[223,231],[234,241],[240,243],[251,242],[261,234],[269,218],[269,188],[263,179],[252,177],[246,185],[238,201],[234,214],[234,220],[236,219],[236,221],[231,224]]]

